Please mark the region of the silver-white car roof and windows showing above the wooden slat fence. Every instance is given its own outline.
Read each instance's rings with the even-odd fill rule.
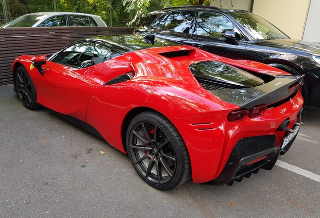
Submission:
[[[26,14],[2,26],[7,27],[65,27],[107,25],[100,16],[71,12],[38,12]]]

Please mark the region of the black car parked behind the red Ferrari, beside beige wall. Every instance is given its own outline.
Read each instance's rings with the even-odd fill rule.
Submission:
[[[165,8],[150,13],[135,32],[305,75],[305,105],[320,107],[320,44],[291,39],[253,13],[215,7]]]

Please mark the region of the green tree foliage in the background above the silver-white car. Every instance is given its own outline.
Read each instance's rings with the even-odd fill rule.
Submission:
[[[209,5],[210,0],[7,0],[7,4],[11,20],[28,13],[56,9],[99,15],[107,25],[110,25],[111,12],[113,25],[124,26],[131,18],[129,24],[139,23],[150,11],[171,6]]]

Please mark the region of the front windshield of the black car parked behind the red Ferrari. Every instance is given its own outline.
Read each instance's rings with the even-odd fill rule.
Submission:
[[[288,37],[271,23],[254,14],[230,13],[256,39],[287,39]]]

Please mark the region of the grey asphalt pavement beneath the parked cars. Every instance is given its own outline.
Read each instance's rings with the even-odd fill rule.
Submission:
[[[320,110],[280,160],[320,175]],[[105,152],[104,154],[101,151]],[[320,182],[275,166],[233,186],[158,191],[104,140],[0,86],[0,217],[320,217]]]

